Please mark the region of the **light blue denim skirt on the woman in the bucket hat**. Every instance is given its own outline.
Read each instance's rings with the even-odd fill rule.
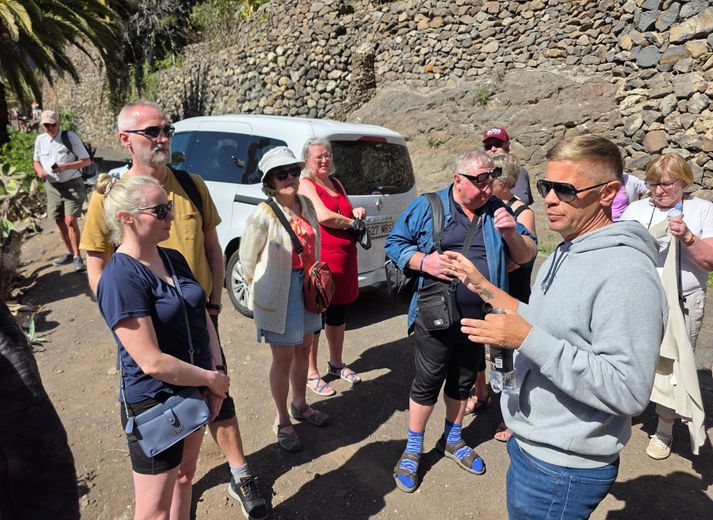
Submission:
[[[262,338],[265,338],[267,343],[273,345],[301,345],[305,334],[312,334],[322,329],[322,315],[305,309],[305,300],[302,295],[304,277],[302,269],[292,271],[290,292],[287,297],[285,332],[280,334],[257,329],[258,343],[262,341]]]

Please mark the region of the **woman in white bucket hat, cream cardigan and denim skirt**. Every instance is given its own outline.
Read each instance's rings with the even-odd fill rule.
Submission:
[[[304,163],[278,146],[260,160],[262,190],[277,203],[304,247],[305,258],[320,258],[319,222],[307,197],[297,194]],[[262,202],[248,219],[240,241],[240,263],[250,286],[248,307],[253,310],[258,341],[265,338],[272,351],[270,390],[277,408],[273,431],[286,451],[302,448],[290,416],[314,426],[326,426],[329,416],[307,404],[307,363],[314,333],[322,327],[319,314],[305,308],[302,258],[277,214]],[[292,387],[288,412],[287,395]]]

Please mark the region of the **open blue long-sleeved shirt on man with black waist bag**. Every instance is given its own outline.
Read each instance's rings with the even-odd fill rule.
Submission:
[[[450,225],[453,216],[449,203],[452,185],[438,191],[438,196],[443,201],[444,229]],[[488,279],[499,288],[507,291],[508,273],[506,244],[502,236],[495,229],[493,214],[498,208],[507,206],[497,197],[490,199],[482,207],[482,236],[487,257],[487,269],[481,271]],[[508,208],[508,211],[512,211]],[[526,235],[535,240],[535,237],[525,226],[518,222],[517,233]],[[385,251],[396,265],[405,269],[409,259],[420,251],[429,254],[434,250],[433,244],[433,214],[431,205],[426,197],[416,197],[394,224],[391,233],[386,237]],[[460,249],[459,249],[460,251]],[[423,277],[419,277],[418,287],[423,284]],[[417,293],[414,292],[408,312],[408,328],[411,330],[416,319]]]

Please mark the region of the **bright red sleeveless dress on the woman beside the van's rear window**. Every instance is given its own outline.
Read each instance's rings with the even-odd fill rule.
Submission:
[[[337,191],[337,195],[332,196],[312,179],[307,180],[317,190],[317,195],[327,209],[351,218],[352,205],[339,181],[332,179],[332,184]],[[321,260],[326,262],[331,269],[336,288],[332,303],[338,305],[352,303],[359,296],[356,241],[347,229],[335,229],[320,225],[319,230],[322,235]]]

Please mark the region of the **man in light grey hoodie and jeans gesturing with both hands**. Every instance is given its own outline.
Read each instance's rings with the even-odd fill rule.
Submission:
[[[528,305],[457,253],[451,272],[504,309],[462,320],[476,343],[516,349],[515,386],[501,400],[508,443],[507,508],[519,518],[588,518],[616,480],[631,417],[649,402],[667,307],[657,246],[635,222],[612,224],[623,161],[611,141],[582,135],[547,153],[537,182],[562,235]]]

